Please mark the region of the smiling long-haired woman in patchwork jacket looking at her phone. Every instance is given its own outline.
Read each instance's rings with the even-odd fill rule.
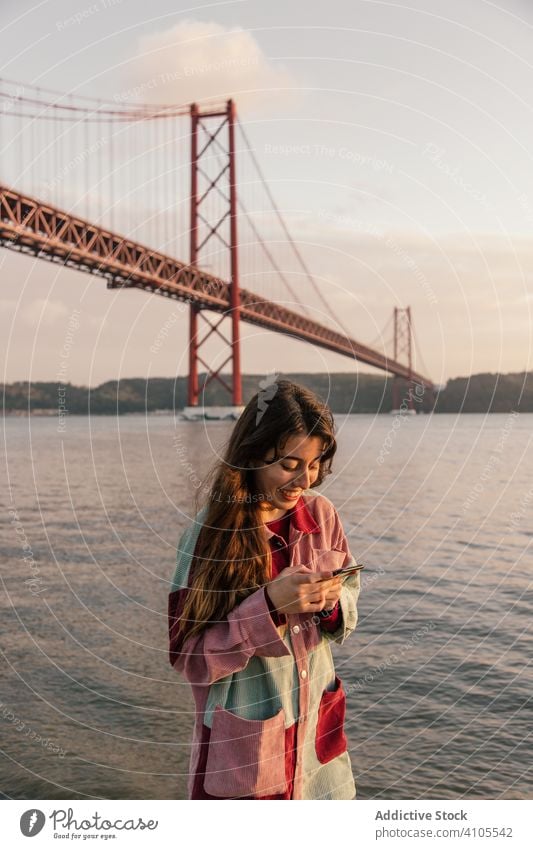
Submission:
[[[336,452],[328,407],[279,380],[237,421],[178,544],[170,662],[196,703],[191,799],[353,799],[330,642],[357,622],[337,512],[309,490]]]

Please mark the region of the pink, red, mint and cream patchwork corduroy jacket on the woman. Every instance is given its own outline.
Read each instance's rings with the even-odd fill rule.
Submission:
[[[331,501],[306,490],[299,504],[305,530],[291,525],[290,565],[318,571],[355,563]],[[191,684],[196,704],[189,798],[207,727],[203,789],[210,796],[256,798],[286,792],[290,740],[296,750],[291,798],[353,799],[346,695],[330,645],[343,643],[356,626],[359,573],[344,580],[342,616],[333,632],[321,628],[317,614],[289,614],[286,625],[276,626],[261,588],[222,622],[180,641],[179,616],[206,511],[204,507],[197,514],[179,540],[168,604],[170,663]],[[265,538],[271,536],[265,525]]]

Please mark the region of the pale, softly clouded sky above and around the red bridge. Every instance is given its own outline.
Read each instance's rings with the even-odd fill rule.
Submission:
[[[117,103],[235,98],[338,330],[392,354],[393,308],[410,306],[415,367],[436,383],[533,369],[530,3],[3,0],[0,29],[0,77],[22,85]],[[260,269],[243,268],[242,285],[266,295]],[[184,305],[5,249],[0,277],[7,382],[187,373]],[[331,325],[324,303],[308,302]],[[252,325],[241,333],[247,373],[372,371]],[[212,364],[227,354],[214,340],[207,350]]]

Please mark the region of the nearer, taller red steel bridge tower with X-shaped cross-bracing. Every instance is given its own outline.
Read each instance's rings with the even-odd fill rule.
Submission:
[[[233,100],[228,100],[223,110],[200,111],[198,104],[191,104],[191,199],[190,199],[190,264],[210,265],[216,246],[222,244],[226,260],[226,273],[230,280],[229,310],[207,317],[206,310],[190,304],[189,316],[189,382],[187,403],[183,410],[186,418],[237,418],[242,409],[240,327],[239,327],[239,261],[237,244],[237,180],[235,160],[236,110]],[[221,200],[222,202],[221,202]],[[224,258],[224,257],[223,257]],[[202,259],[204,261],[202,262]],[[200,316],[208,325],[207,332],[200,336]],[[229,316],[231,340],[219,330],[219,325]],[[200,348],[209,337],[217,333],[228,346],[229,352],[222,364],[213,370],[200,355]],[[220,372],[228,361],[232,363],[232,384],[228,385]],[[198,366],[206,370],[202,387],[198,383]],[[231,396],[231,407],[208,407],[198,405],[200,393],[211,380],[218,380]]]

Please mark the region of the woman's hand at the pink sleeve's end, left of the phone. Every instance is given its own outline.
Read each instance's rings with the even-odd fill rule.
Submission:
[[[308,566],[289,566],[266,585],[268,597],[279,613],[314,613],[335,607],[342,588],[331,572],[313,572]]]

